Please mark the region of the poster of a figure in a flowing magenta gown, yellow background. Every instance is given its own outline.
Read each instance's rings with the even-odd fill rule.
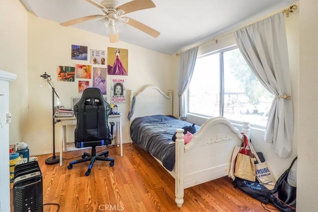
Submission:
[[[128,49],[107,48],[107,73],[128,75]]]

